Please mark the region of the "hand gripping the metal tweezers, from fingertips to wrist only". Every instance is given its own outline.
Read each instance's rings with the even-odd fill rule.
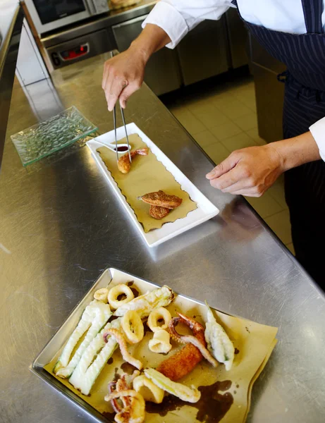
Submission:
[[[109,111],[114,109],[118,98],[125,109],[130,95],[142,85],[146,63],[145,55],[132,47],[104,63],[102,89]]]

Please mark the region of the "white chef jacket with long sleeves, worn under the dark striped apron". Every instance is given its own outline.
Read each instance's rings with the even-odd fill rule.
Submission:
[[[241,16],[247,22],[291,34],[306,32],[301,0],[237,0],[237,3]],[[161,27],[171,39],[166,47],[173,49],[202,20],[218,20],[231,7],[235,7],[231,0],[160,0],[142,27],[147,23]],[[325,27],[325,7],[321,20]],[[325,161],[325,118],[310,126],[309,130]]]

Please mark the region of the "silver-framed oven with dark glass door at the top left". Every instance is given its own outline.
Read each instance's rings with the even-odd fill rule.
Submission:
[[[109,11],[108,0],[25,0],[39,34]]]

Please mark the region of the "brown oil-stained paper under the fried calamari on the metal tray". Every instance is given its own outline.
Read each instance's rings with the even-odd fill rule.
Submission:
[[[127,280],[121,281],[118,278],[114,278],[109,284],[111,286],[117,283],[126,283]],[[152,290],[152,285],[143,281],[136,281],[134,286],[140,291],[145,293],[147,290]],[[184,298],[180,295],[176,300],[167,307],[173,316],[176,315],[176,310],[187,314],[188,316],[195,317],[197,321],[204,323],[207,319],[207,312],[203,305],[198,304],[194,300]],[[247,414],[250,410],[250,396],[252,392],[252,385],[264,369],[266,362],[269,360],[272,350],[276,345],[276,332],[277,328],[271,326],[264,326],[262,324],[255,323],[254,321],[248,321],[240,319],[239,317],[229,316],[222,312],[214,310],[217,321],[223,326],[223,328],[230,336],[235,348],[238,353],[235,355],[233,367],[229,372],[226,371],[222,364],[216,369],[212,368],[205,360],[195,367],[195,369],[181,379],[180,382],[188,386],[208,386],[214,384],[216,381],[231,381],[231,387],[228,389],[228,393],[233,396],[233,404],[230,409],[219,420],[222,423],[240,423],[245,422]],[[158,364],[166,360],[177,350],[182,348],[182,345],[178,345],[171,341],[173,348],[168,355],[159,355],[152,353],[148,348],[149,339],[152,338],[152,332],[147,331],[145,338],[141,343],[137,345],[129,346],[129,351],[137,359],[141,360],[144,367],[157,367]],[[63,345],[62,345],[63,347]],[[62,348],[61,348],[62,349]],[[56,356],[47,364],[44,369],[47,372],[52,373],[52,369],[56,364],[61,353],[60,351]],[[116,374],[121,374],[121,364],[123,359],[119,350],[116,350],[113,355],[113,362],[106,364],[102,373],[99,375],[97,381],[92,387],[90,396],[84,396],[79,391],[76,391],[65,379],[56,378],[71,391],[73,391],[80,398],[85,400],[86,403],[92,405],[97,411],[101,413],[113,412],[111,405],[104,401],[104,396],[107,393],[107,385],[109,381],[114,380]],[[219,392],[222,395],[225,392]],[[111,415],[111,421],[114,421],[114,414]],[[184,405],[178,410],[168,412],[166,415],[161,416],[155,413],[146,413],[145,422],[149,423],[184,423],[184,422],[198,422],[197,409]],[[202,421],[202,420],[200,420]]]

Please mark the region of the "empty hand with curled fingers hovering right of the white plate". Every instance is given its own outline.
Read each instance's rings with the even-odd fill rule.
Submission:
[[[260,197],[283,173],[283,160],[271,144],[232,152],[207,174],[222,192]]]

